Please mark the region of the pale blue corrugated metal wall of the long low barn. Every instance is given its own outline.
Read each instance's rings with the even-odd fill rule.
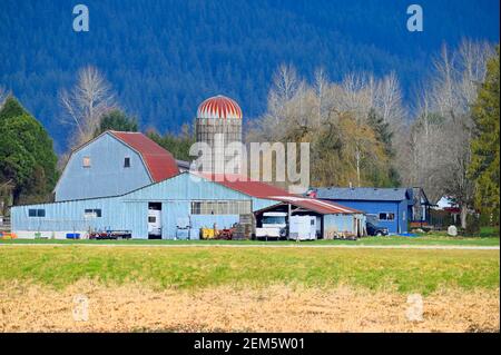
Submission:
[[[252,200],[253,210],[276,204],[185,172],[124,196],[12,207],[12,230],[125,229],[131,230],[134,238],[147,238],[148,203],[161,203],[163,238],[174,238],[183,218],[189,218],[194,229],[214,224],[229,228],[238,221],[238,215],[190,215],[193,200]],[[29,209],[45,209],[46,216],[29,217]],[[86,220],[85,209],[101,209],[101,217]]]

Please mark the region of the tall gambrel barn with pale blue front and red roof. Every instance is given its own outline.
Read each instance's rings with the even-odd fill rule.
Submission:
[[[55,200],[117,196],[177,174],[173,155],[145,135],[108,130],[71,152]]]

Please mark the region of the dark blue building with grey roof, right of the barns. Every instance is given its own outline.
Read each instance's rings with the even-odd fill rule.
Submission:
[[[430,203],[422,188],[327,187],[313,191],[320,199],[364,211],[391,234],[407,233],[412,223],[429,220]]]

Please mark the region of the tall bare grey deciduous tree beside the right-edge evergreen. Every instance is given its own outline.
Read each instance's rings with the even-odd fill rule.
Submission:
[[[452,198],[461,209],[463,228],[473,199],[466,174],[474,126],[471,105],[492,53],[491,46],[468,40],[452,52],[442,48],[434,61],[435,73],[421,93],[419,118],[407,140],[410,149],[400,151],[400,159],[412,164],[404,181],[423,186],[432,200],[443,195]]]

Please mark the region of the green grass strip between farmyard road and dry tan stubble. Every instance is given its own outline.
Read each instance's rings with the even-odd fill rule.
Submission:
[[[105,285],[139,282],[157,289],[348,285],[425,295],[446,288],[499,288],[499,250],[4,246],[0,284],[62,288],[95,279]]]

